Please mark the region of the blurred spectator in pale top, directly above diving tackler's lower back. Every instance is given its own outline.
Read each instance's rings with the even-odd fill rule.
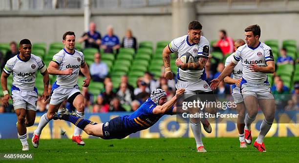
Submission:
[[[133,100],[133,93],[128,89],[127,83],[120,83],[119,90],[116,93],[121,104],[129,105]]]

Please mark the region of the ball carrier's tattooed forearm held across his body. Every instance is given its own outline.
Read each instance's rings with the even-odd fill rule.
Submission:
[[[183,63],[179,58],[175,61],[175,65],[178,66],[180,69],[186,70],[202,70],[208,59],[206,58],[199,58],[197,62],[192,63]]]

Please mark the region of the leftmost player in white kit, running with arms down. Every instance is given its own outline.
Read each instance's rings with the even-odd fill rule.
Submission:
[[[3,104],[8,106],[8,100],[12,98],[14,109],[18,118],[18,137],[22,143],[22,150],[29,150],[26,127],[32,126],[36,116],[36,104],[38,91],[35,87],[35,79],[38,71],[43,75],[43,96],[46,100],[48,93],[49,74],[42,59],[31,54],[31,42],[28,39],[20,41],[20,54],[9,59],[1,74],[1,86],[3,90]],[[12,74],[13,82],[11,97],[7,90],[7,78]]]

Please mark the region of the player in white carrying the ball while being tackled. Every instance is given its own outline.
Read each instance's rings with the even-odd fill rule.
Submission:
[[[169,43],[163,50],[163,61],[165,66],[165,78],[172,80],[173,74],[170,67],[170,54],[177,52],[178,59],[176,60],[177,81],[175,87],[177,89],[185,89],[187,96],[197,94],[212,94],[213,91],[206,80],[204,70],[205,64],[209,56],[209,41],[201,36],[202,25],[200,22],[193,20],[188,26],[188,35],[176,38]],[[192,63],[182,63],[179,59],[184,53],[191,53],[194,57]],[[205,101],[201,99],[202,101]],[[200,112],[199,108],[192,108],[189,111],[194,114]],[[197,152],[207,152],[201,140],[201,125],[208,132],[212,132],[212,127],[206,119],[191,118],[191,129],[195,138]]]

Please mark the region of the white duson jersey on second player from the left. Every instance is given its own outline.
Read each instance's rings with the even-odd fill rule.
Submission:
[[[59,70],[63,71],[68,68],[73,69],[73,73],[70,75],[57,75],[54,84],[63,88],[73,88],[78,84],[79,70],[81,64],[85,62],[82,52],[75,50],[73,54],[70,54],[65,49],[62,49],[53,56],[52,61],[55,61],[59,65]]]

